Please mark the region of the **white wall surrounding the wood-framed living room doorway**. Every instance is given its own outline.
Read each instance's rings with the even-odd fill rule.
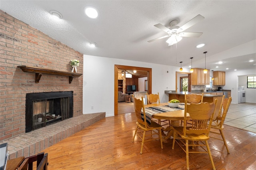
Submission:
[[[164,94],[164,90],[175,89],[176,71],[179,71],[180,68],[169,65],[84,55],[84,114],[106,112],[106,117],[114,116],[114,65],[152,68],[152,93],[159,92],[161,102],[168,101],[168,95]]]

